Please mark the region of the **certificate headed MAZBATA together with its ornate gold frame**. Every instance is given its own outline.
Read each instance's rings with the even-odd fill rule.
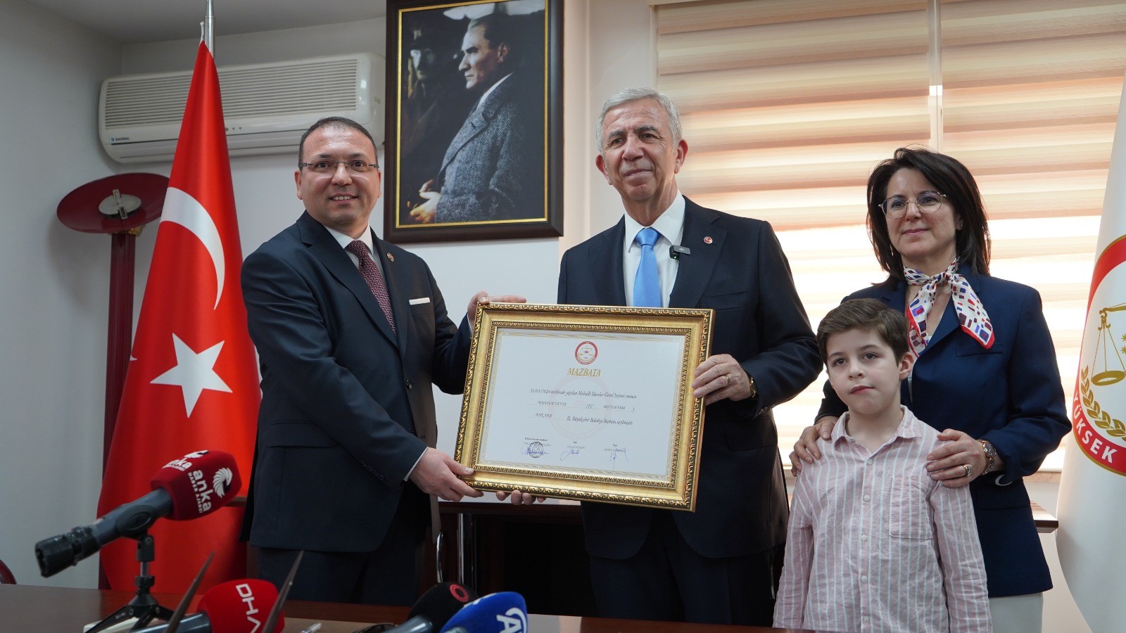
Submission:
[[[712,311],[477,311],[455,460],[481,490],[691,511]]]

